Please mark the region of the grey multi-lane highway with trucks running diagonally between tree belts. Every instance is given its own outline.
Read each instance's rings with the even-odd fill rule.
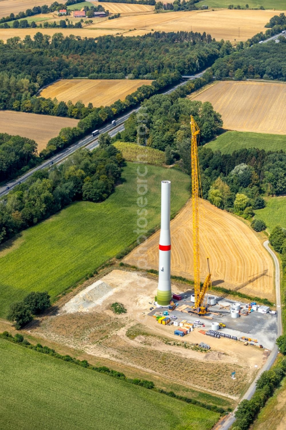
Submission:
[[[189,80],[201,77],[202,74],[204,74],[204,71],[201,71],[198,74],[195,74],[193,76],[189,77]],[[175,91],[177,88],[179,88],[182,85],[186,85],[188,83],[188,80],[179,83],[172,88],[168,89],[167,91],[163,92],[162,94],[170,94],[171,92]],[[99,133],[105,133],[109,132],[110,136],[115,136],[118,132],[121,132],[124,130],[124,122],[130,117],[130,115],[133,112],[139,111],[140,107],[137,109],[132,109],[127,114],[123,115],[120,118],[116,119],[116,123],[118,125],[113,126],[111,123],[102,127],[99,129]],[[53,164],[61,163],[65,158],[67,158],[69,155],[73,154],[77,149],[82,147],[87,147],[89,150],[94,149],[98,145],[98,135],[97,137],[93,137],[91,135],[85,136],[85,138],[78,141],[76,144],[71,145],[68,148],[65,148],[63,151],[59,152],[57,155],[54,155],[53,157],[49,158],[49,160],[44,161],[39,166],[35,167],[34,169],[31,169],[29,172],[25,173],[23,176],[17,178],[17,180],[12,180],[7,182],[3,187],[0,187],[0,198],[5,196],[9,193],[10,190],[12,190],[16,185],[18,185],[20,182],[27,181],[28,178],[30,178],[31,175],[33,175],[34,172],[37,172],[37,170],[46,169],[47,167],[52,166]],[[9,189],[6,189],[9,187]]]

